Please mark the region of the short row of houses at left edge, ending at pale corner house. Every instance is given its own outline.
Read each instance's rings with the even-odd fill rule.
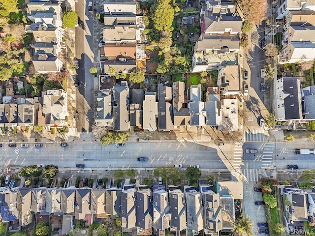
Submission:
[[[9,81],[6,81],[10,87]],[[13,85],[12,85],[13,88]],[[43,126],[63,127],[68,116],[67,92],[63,89],[48,89],[40,97],[25,98],[24,95],[3,96],[0,104],[0,127]]]

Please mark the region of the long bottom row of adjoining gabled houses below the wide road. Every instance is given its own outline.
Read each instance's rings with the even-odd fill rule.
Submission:
[[[156,185],[152,191],[130,184],[109,189],[11,188],[0,192],[1,219],[26,227],[36,214],[63,215],[71,218],[63,229],[71,229],[74,219],[89,225],[110,215],[121,217],[122,230],[130,235],[152,235],[152,229],[161,236],[167,229],[178,236],[183,230],[216,235],[234,229],[234,198],[243,199],[242,182],[217,182],[216,192],[212,189],[205,184],[199,189],[184,186],[184,192],[180,186],[166,190]]]

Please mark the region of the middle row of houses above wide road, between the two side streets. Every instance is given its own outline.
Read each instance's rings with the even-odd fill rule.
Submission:
[[[230,87],[226,78],[224,87]],[[144,131],[169,131],[188,125],[238,130],[238,101],[221,99],[219,90],[209,87],[203,101],[200,84],[190,86],[185,95],[185,83],[181,81],[172,87],[159,84],[158,92],[130,92],[127,82],[122,81],[121,85],[98,92],[95,124],[115,131],[127,131],[132,126]]]

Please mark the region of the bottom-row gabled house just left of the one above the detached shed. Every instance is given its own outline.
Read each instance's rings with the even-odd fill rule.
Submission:
[[[62,189],[47,189],[46,190],[46,211],[50,214],[61,213],[61,195]]]

